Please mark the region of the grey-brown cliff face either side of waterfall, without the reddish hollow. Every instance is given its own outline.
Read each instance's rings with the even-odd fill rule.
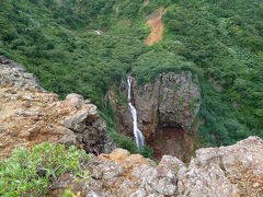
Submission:
[[[122,84],[122,92],[126,96],[125,83]],[[132,134],[128,108],[117,105],[116,97],[112,94],[110,101],[117,116],[118,129]],[[201,93],[198,79],[190,71],[161,73],[155,81],[144,86],[138,85],[133,79],[133,94],[138,126],[147,139],[153,136],[158,125],[181,127],[187,132],[192,131],[192,125],[199,112]]]

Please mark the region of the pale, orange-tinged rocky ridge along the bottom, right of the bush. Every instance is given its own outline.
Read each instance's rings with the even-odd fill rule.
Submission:
[[[83,164],[89,179],[65,174],[50,195],[70,188],[80,196],[263,196],[263,140],[250,137],[230,147],[199,149],[187,166],[174,157],[160,163],[116,149]]]

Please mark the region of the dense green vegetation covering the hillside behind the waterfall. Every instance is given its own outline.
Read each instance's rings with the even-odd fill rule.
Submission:
[[[163,40],[148,47],[144,16],[160,7]],[[0,54],[61,97],[81,93],[114,120],[102,101],[127,71],[142,84],[160,72],[191,70],[201,83],[205,142],[263,137],[261,0],[150,0],[147,7],[141,0],[5,0],[0,8]]]

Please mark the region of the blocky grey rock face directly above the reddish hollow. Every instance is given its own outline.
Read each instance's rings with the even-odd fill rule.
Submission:
[[[199,112],[199,89],[193,82],[191,72],[167,73],[160,77],[159,121],[165,125],[180,125],[190,131]]]

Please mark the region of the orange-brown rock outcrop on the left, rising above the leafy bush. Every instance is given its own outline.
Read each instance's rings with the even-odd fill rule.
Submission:
[[[78,94],[65,101],[42,89],[23,66],[0,57],[0,159],[15,147],[52,141],[88,152],[115,148],[96,106]]]

